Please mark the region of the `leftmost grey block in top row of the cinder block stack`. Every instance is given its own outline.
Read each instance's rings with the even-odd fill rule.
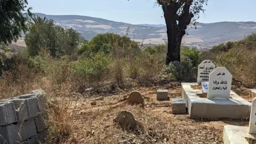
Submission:
[[[15,105],[13,102],[0,102],[0,125],[18,122]]]

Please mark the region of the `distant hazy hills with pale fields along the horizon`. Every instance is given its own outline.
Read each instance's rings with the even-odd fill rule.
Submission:
[[[92,39],[102,33],[116,33],[123,36],[129,27],[128,36],[134,41],[143,40],[143,43],[147,44],[162,44],[167,40],[165,25],[132,25],[81,15],[35,14],[53,19],[58,26],[74,28],[86,39]],[[256,22],[198,23],[197,29],[194,26],[187,28],[188,35],[183,36],[182,44],[207,48],[227,41],[238,41],[253,32],[256,33]]]

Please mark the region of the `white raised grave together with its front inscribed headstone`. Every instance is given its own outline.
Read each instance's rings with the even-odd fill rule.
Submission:
[[[251,103],[231,91],[231,80],[229,71],[225,67],[218,67],[209,75],[209,82],[201,82],[201,89],[198,89],[198,83],[181,83],[181,95],[185,98],[189,116],[213,119],[249,118]],[[201,97],[202,94],[204,97]]]

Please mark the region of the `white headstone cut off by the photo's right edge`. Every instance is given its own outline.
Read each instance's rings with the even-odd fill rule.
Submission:
[[[249,133],[256,134],[256,98],[252,100]]]

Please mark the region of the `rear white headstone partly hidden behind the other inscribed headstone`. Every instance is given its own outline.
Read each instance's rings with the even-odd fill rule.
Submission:
[[[215,65],[210,60],[204,60],[198,65],[197,83],[208,82],[209,75],[215,69]]]

